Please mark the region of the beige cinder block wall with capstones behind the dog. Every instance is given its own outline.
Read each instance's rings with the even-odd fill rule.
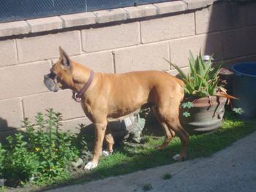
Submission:
[[[70,91],[50,93],[43,75],[59,46],[95,71],[169,70],[163,58],[187,69],[189,50],[230,65],[256,61],[256,4],[172,1],[124,9],[0,23],[0,135],[52,107],[63,129],[89,124]],[[96,95],[97,96],[97,95]]]

